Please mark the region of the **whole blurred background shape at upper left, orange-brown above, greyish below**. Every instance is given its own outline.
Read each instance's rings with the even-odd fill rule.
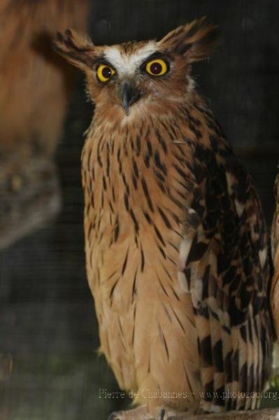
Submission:
[[[0,1],[0,250],[61,207],[54,155],[76,71],[52,38],[85,31],[89,9],[89,0]]]

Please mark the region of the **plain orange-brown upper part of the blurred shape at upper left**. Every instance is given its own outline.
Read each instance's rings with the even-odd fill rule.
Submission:
[[[51,40],[69,26],[85,31],[88,10],[89,0],[1,1],[1,151],[54,153],[75,72]]]

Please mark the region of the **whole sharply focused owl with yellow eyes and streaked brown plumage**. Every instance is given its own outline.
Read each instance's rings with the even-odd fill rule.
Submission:
[[[138,419],[255,408],[246,392],[269,377],[261,205],[190,77],[216,33],[201,19],[159,42],[100,47],[67,31],[56,43],[96,105],[82,156],[87,275],[101,351],[146,404]]]

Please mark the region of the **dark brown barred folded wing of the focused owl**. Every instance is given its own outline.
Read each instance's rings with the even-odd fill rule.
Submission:
[[[203,407],[248,408],[256,398],[235,392],[262,391],[271,363],[266,228],[229,145],[211,146],[196,147],[178,279],[196,314]]]

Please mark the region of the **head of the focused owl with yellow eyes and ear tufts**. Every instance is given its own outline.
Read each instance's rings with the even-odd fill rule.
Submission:
[[[68,29],[58,33],[55,49],[85,71],[96,109],[115,109],[123,117],[185,98],[192,87],[191,65],[208,57],[217,27],[205,18],[180,26],[160,41],[94,45]]]

